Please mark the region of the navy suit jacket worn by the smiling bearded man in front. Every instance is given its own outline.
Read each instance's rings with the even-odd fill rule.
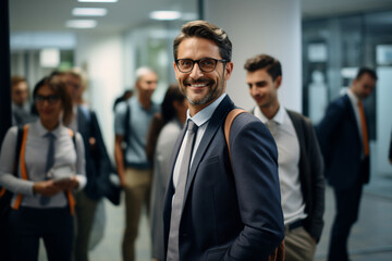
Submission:
[[[284,237],[275,144],[259,120],[238,115],[230,134],[232,169],[223,125],[233,108],[225,97],[195,154],[180,223],[180,260],[267,260]],[[172,171],[184,134],[185,129],[173,150]],[[172,178],[163,213],[166,251]]]

